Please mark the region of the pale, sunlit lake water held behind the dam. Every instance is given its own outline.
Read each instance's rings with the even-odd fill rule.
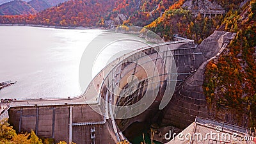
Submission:
[[[0,26],[0,83],[18,81],[0,90],[1,99],[27,99],[40,97],[75,97],[84,90],[79,85],[79,64],[83,52],[92,43],[104,42],[104,35],[127,38],[125,34],[100,29],[51,29],[26,26]],[[110,36],[110,37],[111,37]],[[109,37],[109,36],[107,36]],[[92,58],[93,68],[88,68],[86,83],[92,80],[106,64],[122,54],[147,44],[134,35],[115,42],[103,50],[98,47]],[[108,40],[109,42],[109,40]],[[118,53],[113,56],[113,53]],[[90,54],[89,54],[90,55]]]

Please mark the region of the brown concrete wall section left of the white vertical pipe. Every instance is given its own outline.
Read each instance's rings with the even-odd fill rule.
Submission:
[[[38,136],[68,141],[68,106],[10,108],[10,124],[17,132],[35,131]]]

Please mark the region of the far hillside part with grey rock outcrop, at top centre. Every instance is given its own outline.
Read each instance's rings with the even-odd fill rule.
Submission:
[[[105,23],[107,27],[118,24],[146,26],[173,3],[174,0],[123,0],[116,3],[115,9],[105,17]],[[120,19],[116,22],[116,18],[120,15],[124,15],[125,20]]]

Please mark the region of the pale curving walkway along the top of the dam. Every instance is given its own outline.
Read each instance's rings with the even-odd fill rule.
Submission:
[[[180,38],[180,37],[179,37]],[[173,44],[186,44],[194,42],[193,40],[189,39],[184,39],[184,40],[179,40],[179,41],[172,41],[172,42],[165,42],[161,44],[155,44],[151,45],[148,47],[142,47],[141,49],[138,49],[139,51],[143,51],[145,49],[150,49],[154,47],[159,47],[163,45],[173,45]],[[202,54],[202,52],[192,52],[193,49],[196,47],[177,47],[177,48],[172,48],[170,47],[170,50],[172,51],[182,51],[182,50],[190,50],[189,52],[186,53],[179,53],[179,54],[173,54],[173,56],[182,56],[182,55],[195,55],[195,54]],[[191,51],[192,50],[192,51]],[[173,52],[174,53],[174,52]],[[124,58],[134,54],[131,52],[130,54],[125,54]],[[74,105],[74,104],[98,104],[99,103],[99,90],[100,90],[100,85],[102,84],[102,80],[104,79],[104,74],[108,74],[108,72],[118,65],[118,63],[121,63],[122,59],[120,58],[117,61],[113,61],[110,63],[107,67],[102,69],[97,76],[92,80],[92,82],[89,84],[88,88],[86,88],[86,91],[77,97],[63,97],[63,98],[37,98],[37,99],[16,99],[13,100],[10,103],[10,107],[26,107],[26,106],[58,106],[58,105]],[[194,60],[195,61],[195,60]],[[182,73],[180,73],[182,74]],[[191,73],[184,73],[184,74],[191,74]],[[182,79],[178,80],[182,81]]]

